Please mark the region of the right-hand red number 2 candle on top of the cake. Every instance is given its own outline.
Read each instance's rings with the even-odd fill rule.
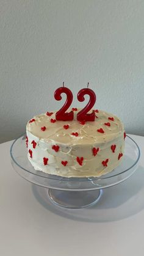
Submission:
[[[87,85],[87,88],[79,90],[79,92],[77,93],[77,100],[81,102],[84,101],[85,100],[84,95],[86,94],[90,96],[90,100],[88,101],[85,108],[83,108],[81,111],[77,113],[77,120],[80,122],[81,121],[93,122],[95,121],[95,112],[92,112],[89,114],[87,114],[87,112],[93,108],[96,102],[95,92],[93,92],[92,89],[88,88],[88,85]]]

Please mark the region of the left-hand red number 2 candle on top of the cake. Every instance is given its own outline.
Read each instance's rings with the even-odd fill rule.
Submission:
[[[65,104],[63,104],[62,108],[56,112],[56,120],[59,120],[59,121],[73,120],[73,111],[69,113],[66,112],[73,101],[73,93],[71,92],[70,89],[68,89],[67,87],[64,87],[64,82],[63,82],[63,87],[59,87],[54,92],[54,98],[56,100],[62,100],[62,96],[61,96],[62,93],[65,93],[67,95],[67,99],[65,101]]]

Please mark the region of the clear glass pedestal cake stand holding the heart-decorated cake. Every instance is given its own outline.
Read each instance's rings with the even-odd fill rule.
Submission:
[[[128,179],[138,167],[140,149],[126,136],[125,152],[120,166],[98,178],[65,178],[35,170],[27,159],[26,134],[16,139],[10,147],[13,168],[25,180],[46,189],[49,199],[65,208],[84,208],[98,202],[103,189]]]

